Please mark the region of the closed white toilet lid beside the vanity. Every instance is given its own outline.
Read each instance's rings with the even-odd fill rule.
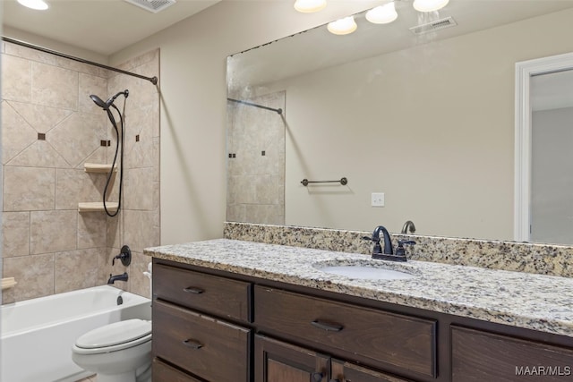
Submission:
[[[97,349],[137,341],[151,334],[151,321],[134,318],[90,330],[77,339],[81,349]]]

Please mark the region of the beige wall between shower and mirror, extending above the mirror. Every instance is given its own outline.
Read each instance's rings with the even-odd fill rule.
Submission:
[[[296,13],[290,1],[223,1],[113,55],[161,48],[161,242],[221,237],[226,219],[226,58],[374,2]]]

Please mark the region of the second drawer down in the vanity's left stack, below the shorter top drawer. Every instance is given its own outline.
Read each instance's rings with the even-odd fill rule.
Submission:
[[[213,382],[248,381],[251,331],[153,301],[153,354]]]

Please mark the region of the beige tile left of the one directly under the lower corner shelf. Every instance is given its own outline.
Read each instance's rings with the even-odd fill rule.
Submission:
[[[30,214],[30,252],[33,254],[75,250],[78,212],[33,211]]]

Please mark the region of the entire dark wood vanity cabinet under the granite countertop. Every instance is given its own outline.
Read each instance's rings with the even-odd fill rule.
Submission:
[[[573,339],[153,260],[154,382],[573,380]]]

